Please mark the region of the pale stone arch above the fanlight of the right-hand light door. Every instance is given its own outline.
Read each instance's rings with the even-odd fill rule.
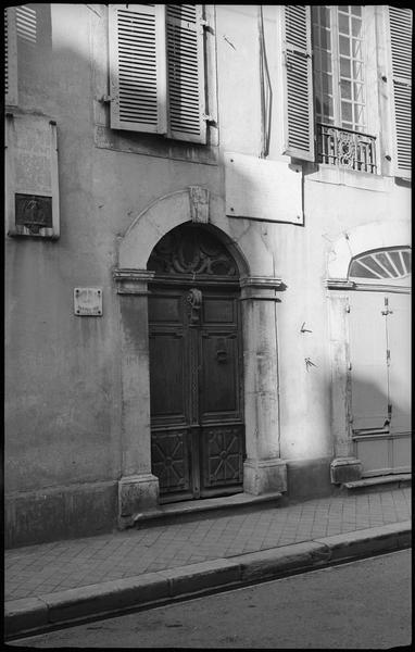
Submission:
[[[341,234],[328,255],[328,280],[347,280],[352,258],[382,247],[411,246],[407,221],[370,222]]]

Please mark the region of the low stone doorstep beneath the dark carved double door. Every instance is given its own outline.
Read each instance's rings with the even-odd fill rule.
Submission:
[[[177,523],[178,519],[190,517],[209,517],[213,513],[225,512],[227,510],[250,510],[250,507],[275,507],[276,503],[282,498],[278,491],[252,496],[251,493],[235,493],[234,496],[223,496],[221,498],[205,498],[203,500],[188,500],[177,503],[159,505],[153,510],[144,510],[134,514],[133,526],[139,526],[142,523],[146,526],[160,525],[160,521],[167,523],[171,519]]]

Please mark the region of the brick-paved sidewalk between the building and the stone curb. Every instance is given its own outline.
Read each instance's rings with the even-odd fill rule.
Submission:
[[[231,557],[411,518],[411,488],[336,496],[5,551],[4,600]]]

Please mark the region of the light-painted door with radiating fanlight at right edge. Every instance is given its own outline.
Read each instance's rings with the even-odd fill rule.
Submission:
[[[352,438],[364,477],[411,469],[411,254],[370,250],[349,266]]]

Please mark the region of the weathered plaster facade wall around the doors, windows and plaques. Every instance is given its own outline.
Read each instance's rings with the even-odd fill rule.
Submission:
[[[328,254],[343,231],[407,216],[408,189],[391,178],[304,166],[304,226],[227,217],[223,153],[256,158],[261,151],[257,8],[216,8],[219,146],[203,148],[109,135],[108,106],[99,101],[108,92],[105,5],[30,7],[37,40],[18,42],[20,110],[58,124],[61,237],[5,241],[10,542],[115,525],[123,394],[112,273],[137,215],[192,185],[211,191],[212,222],[243,240],[250,273],[266,261],[267,273],[286,285],[276,305],[280,423],[271,437],[279,439],[289,469],[291,464],[292,496],[329,490]],[[277,10],[266,7],[264,13],[269,62],[278,46],[272,38]],[[269,68],[277,89],[278,68]],[[289,163],[280,154],[277,92],[274,105],[271,159]],[[102,317],[74,315],[75,287],[102,288]],[[35,522],[41,525],[28,526]]]

